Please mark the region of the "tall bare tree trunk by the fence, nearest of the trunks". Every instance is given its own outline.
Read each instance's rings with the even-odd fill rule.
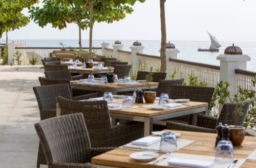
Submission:
[[[165,26],[165,0],[160,0],[160,19],[161,19],[161,49],[160,49],[160,72],[166,72],[166,26]]]

